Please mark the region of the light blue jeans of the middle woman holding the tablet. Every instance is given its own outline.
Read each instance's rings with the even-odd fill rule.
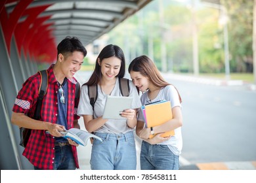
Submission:
[[[91,152],[92,170],[135,170],[136,148],[133,132],[125,134],[95,133]]]

